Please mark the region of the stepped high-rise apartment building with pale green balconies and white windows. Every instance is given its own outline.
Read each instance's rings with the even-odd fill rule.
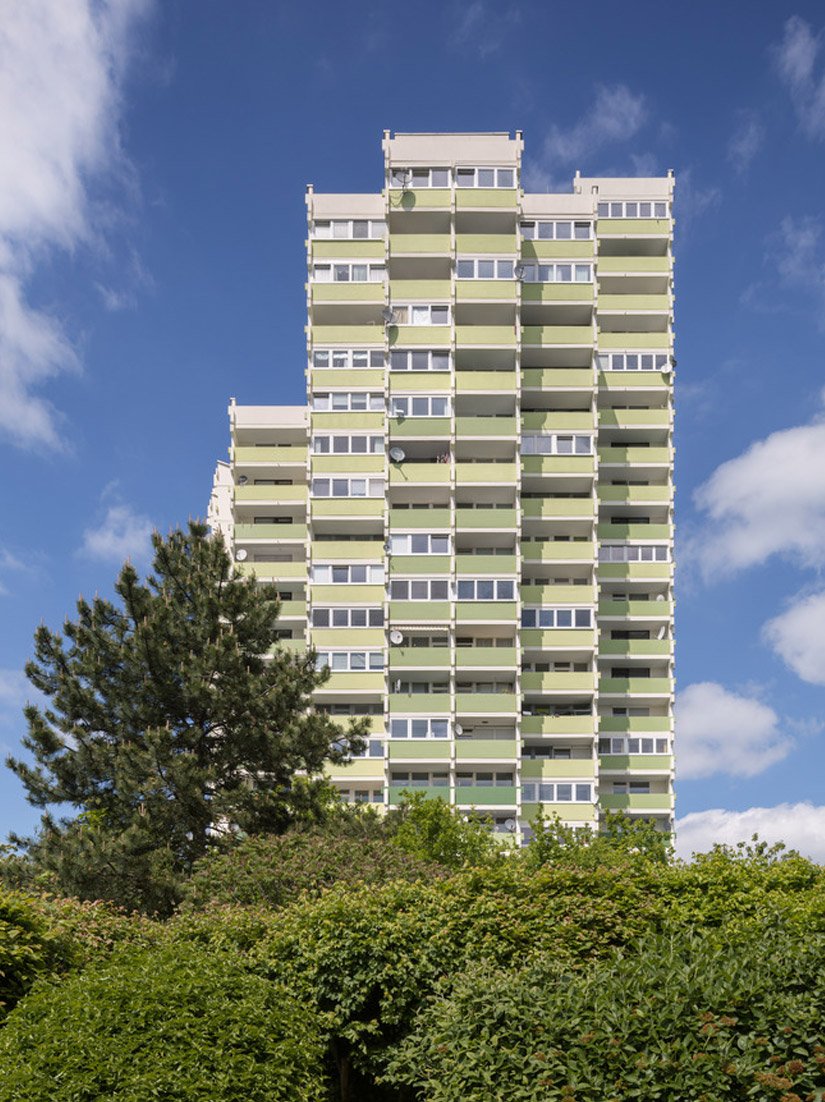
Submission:
[[[503,133],[386,133],[307,190],[307,404],[230,407],[211,515],[370,716],[341,797],[673,815],[673,179],[521,188]],[[296,273],[297,277],[297,273]]]

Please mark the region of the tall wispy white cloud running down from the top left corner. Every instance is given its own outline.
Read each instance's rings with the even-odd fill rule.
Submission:
[[[0,433],[63,444],[41,391],[78,369],[61,320],[28,298],[54,249],[93,245],[110,213],[94,187],[129,175],[121,84],[135,20],[151,0],[8,0],[0,23]]]

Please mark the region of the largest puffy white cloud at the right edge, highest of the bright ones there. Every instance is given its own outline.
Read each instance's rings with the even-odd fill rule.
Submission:
[[[688,553],[706,580],[784,554],[825,564],[825,419],[782,429],[717,467],[694,494],[706,514]]]

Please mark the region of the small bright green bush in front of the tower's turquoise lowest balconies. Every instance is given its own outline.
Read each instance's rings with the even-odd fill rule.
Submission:
[[[423,792],[405,793],[391,812],[392,841],[420,861],[436,861],[446,868],[486,865],[500,856],[495,836],[484,820],[451,808]]]

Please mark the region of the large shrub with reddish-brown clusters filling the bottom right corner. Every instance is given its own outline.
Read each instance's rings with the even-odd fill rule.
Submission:
[[[825,1088],[825,937],[651,936],[585,971],[475,963],[389,1069],[427,1102],[803,1102]]]

